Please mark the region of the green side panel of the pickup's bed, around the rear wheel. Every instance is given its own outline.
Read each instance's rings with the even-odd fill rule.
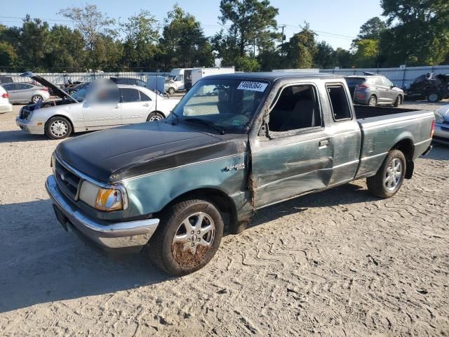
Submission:
[[[429,147],[433,112],[416,111],[358,119],[362,131],[361,163],[356,178],[373,176],[401,140],[413,144],[412,160]]]

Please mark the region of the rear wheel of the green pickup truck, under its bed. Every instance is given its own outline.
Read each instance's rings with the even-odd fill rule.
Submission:
[[[406,169],[404,154],[399,150],[391,150],[375,176],[366,179],[368,190],[377,197],[393,197],[401,188]]]

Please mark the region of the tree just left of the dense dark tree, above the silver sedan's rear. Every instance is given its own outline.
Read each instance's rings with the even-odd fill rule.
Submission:
[[[159,29],[156,18],[149,11],[141,10],[121,25],[126,34],[123,57],[128,67],[151,67],[159,48]]]

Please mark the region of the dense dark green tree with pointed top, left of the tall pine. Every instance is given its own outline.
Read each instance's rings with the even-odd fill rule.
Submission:
[[[194,15],[177,4],[164,20],[161,58],[166,67],[210,67],[214,62],[212,46]]]

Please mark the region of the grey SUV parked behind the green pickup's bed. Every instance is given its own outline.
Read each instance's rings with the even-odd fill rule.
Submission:
[[[392,104],[401,105],[404,92],[382,75],[364,75],[344,77],[354,103],[363,105]]]

